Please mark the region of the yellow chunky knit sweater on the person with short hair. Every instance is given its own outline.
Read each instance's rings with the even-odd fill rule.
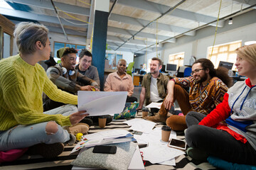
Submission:
[[[71,125],[69,116],[43,114],[43,92],[53,101],[78,104],[78,96],[58,89],[40,64],[32,66],[20,55],[0,60],[0,130],[49,120]]]

